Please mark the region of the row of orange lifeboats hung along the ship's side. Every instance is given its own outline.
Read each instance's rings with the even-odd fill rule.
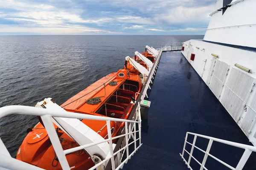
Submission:
[[[143,52],[143,56],[150,60],[153,58],[151,61],[154,62],[154,57],[151,54]],[[136,59],[136,57],[134,58],[140,65],[147,68],[143,61]],[[140,72],[126,61],[123,69],[99,79],[68,99],[60,105],[60,108],[68,112],[128,119],[129,113],[131,113],[134,106],[132,101],[137,99],[142,85],[143,81]],[[55,103],[52,99],[50,101]],[[46,108],[46,100],[39,102],[38,105]],[[19,147],[16,158],[47,170],[61,170],[61,165],[40,117],[39,120],[40,122],[34,128],[27,130],[28,134]],[[108,139],[106,122],[87,119],[79,121],[99,134],[103,139]],[[78,142],[65,133],[61,127],[56,124],[54,126],[63,150],[79,146]],[[124,124],[121,122],[111,121],[112,136],[117,136],[123,126]],[[116,141],[113,140],[112,142]],[[95,165],[86,150],[69,153],[66,158],[72,170],[89,169]]]

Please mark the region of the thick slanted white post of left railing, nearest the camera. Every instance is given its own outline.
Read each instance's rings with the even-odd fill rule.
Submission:
[[[67,158],[65,156],[65,153],[62,149],[61,142],[58,138],[58,135],[55,131],[54,125],[52,123],[52,116],[50,115],[44,115],[41,116],[42,121],[44,122],[45,129],[47,131],[47,134],[50,138],[50,141],[52,143],[52,146],[55,150],[55,153],[58,157],[58,160],[60,161],[61,167],[63,170],[70,170],[69,164],[67,162]]]

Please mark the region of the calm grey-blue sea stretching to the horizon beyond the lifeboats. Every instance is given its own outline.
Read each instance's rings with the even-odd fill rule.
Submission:
[[[126,56],[145,46],[181,46],[204,36],[0,36],[0,107],[35,104],[51,97],[58,105],[96,80],[122,68]],[[36,116],[0,119],[0,137],[13,157],[38,122]]]

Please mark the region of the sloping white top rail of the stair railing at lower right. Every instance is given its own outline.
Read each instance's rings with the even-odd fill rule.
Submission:
[[[202,137],[202,138],[205,138],[205,139],[211,139],[211,140],[216,141],[216,142],[228,144],[230,146],[239,147],[239,148],[242,148],[242,149],[246,149],[247,148],[247,149],[249,149],[249,150],[251,150],[253,152],[256,152],[256,147],[250,146],[250,145],[247,145],[247,144],[241,144],[241,143],[226,141],[226,140],[223,140],[223,139],[218,139],[218,138],[213,138],[213,137],[210,137],[210,136],[200,135],[198,133],[187,132],[187,134],[199,136],[199,137]]]

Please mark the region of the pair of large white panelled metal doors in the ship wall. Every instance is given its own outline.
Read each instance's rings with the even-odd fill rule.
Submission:
[[[230,68],[218,58],[211,61],[207,85],[244,133],[247,136],[255,133],[256,79],[239,68]]]

